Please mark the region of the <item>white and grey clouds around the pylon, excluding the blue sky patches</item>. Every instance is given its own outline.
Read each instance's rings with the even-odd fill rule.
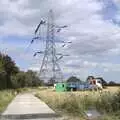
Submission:
[[[114,2],[117,5],[119,0]],[[70,54],[70,57],[65,57],[64,62],[60,63],[64,72],[77,75],[82,73],[86,76],[92,72],[91,69],[102,69],[104,72],[119,71],[120,65],[109,60],[109,57],[118,58],[120,54],[120,26],[115,25],[112,20],[104,19],[106,14],[102,13],[102,5],[104,2],[100,3],[98,0],[1,0],[0,35],[31,36],[40,18],[46,19],[49,9],[53,8],[55,22],[68,25],[58,36],[72,41],[72,44],[62,50],[63,53]],[[118,11],[115,12],[119,21],[119,5],[117,7]],[[3,49],[5,47],[3,46]],[[39,48],[38,45],[34,47]],[[40,45],[40,48],[43,47]],[[9,48],[8,52],[17,57],[23,50],[16,49]],[[25,57],[21,55],[21,58],[25,62],[29,60],[33,63],[30,54]],[[36,65],[30,67],[31,69],[38,70],[42,57],[37,59],[34,61]]]

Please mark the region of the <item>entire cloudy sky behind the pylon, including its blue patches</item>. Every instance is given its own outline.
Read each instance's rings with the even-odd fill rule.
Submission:
[[[60,61],[64,76],[94,75],[120,82],[119,0],[0,0],[1,52],[9,54],[21,70],[39,70],[43,56],[34,58],[33,53],[44,49],[44,43],[29,44],[49,9],[56,24],[68,25],[57,38],[72,41],[62,49],[70,54]]]

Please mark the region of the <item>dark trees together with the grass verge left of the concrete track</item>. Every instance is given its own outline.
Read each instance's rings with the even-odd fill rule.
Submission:
[[[26,87],[41,84],[42,82],[35,72],[31,70],[27,72],[20,71],[11,57],[0,53],[0,112],[14,98],[15,93],[28,90]]]

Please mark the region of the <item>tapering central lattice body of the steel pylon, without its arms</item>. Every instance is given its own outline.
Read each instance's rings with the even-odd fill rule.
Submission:
[[[50,10],[47,22],[47,38],[44,58],[40,69],[40,78],[54,83],[62,81],[63,75],[56,56],[55,24],[53,11]]]

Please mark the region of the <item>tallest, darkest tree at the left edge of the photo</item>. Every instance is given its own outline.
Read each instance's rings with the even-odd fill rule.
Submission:
[[[19,69],[11,57],[0,53],[0,89],[12,88],[10,78],[18,72]]]

